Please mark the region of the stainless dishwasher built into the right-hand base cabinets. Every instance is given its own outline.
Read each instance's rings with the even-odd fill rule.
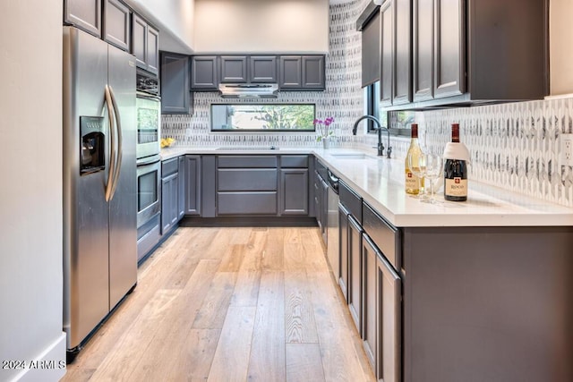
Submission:
[[[335,279],[338,280],[340,255],[338,248],[338,177],[329,170],[329,208],[327,216],[327,256]]]

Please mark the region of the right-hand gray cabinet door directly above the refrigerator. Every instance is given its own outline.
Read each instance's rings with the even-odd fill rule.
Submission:
[[[132,34],[132,13],[119,0],[104,2],[104,39],[124,51],[129,51]]]

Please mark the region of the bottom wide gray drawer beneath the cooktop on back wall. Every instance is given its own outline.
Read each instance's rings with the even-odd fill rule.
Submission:
[[[277,215],[277,192],[218,192],[218,216]]]

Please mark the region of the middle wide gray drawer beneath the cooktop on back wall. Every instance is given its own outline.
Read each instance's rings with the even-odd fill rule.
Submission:
[[[277,191],[277,170],[224,168],[217,170],[218,191]]]

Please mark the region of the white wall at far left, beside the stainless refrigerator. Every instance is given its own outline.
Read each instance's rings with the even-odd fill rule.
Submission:
[[[0,2],[0,380],[64,375],[62,0]]]

